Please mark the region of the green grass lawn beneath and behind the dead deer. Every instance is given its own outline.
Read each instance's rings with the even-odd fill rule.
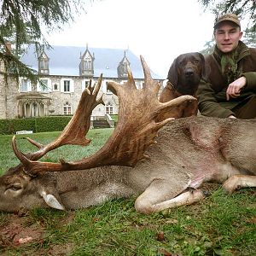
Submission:
[[[64,146],[49,158],[78,160],[100,148],[112,131],[90,130],[89,147]],[[29,136],[49,143],[58,134]],[[0,173],[19,163],[10,141],[11,136],[0,137]],[[18,146],[35,150],[26,140]],[[255,189],[225,195],[210,187],[204,201],[149,216],[135,211],[135,198],[77,211],[0,212],[0,255],[256,255]]]

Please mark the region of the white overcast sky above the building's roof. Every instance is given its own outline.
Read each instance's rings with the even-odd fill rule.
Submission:
[[[200,51],[212,38],[214,16],[197,0],[102,0],[85,9],[71,26],[46,37],[49,44],[129,48],[164,79],[177,55]]]

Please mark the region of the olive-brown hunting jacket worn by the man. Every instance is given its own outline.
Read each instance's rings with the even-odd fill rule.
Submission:
[[[215,49],[211,55],[205,56],[207,79],[201,79],[197,91],[201,114],[220,118],[228,117],[234,114],[232,108],[256,95],[256,48],[248,48],[242,42],[239,42],[238,47],[237,69],[241,70],[241,75],[236,79],[244,76],[247,79],[246,86],[242,88],[240,96],[230,98],[230,101],[226,100],[229,83],[221,71],[220,56]]]

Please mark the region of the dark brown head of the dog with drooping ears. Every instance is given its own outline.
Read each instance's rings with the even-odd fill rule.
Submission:
[[[205,58],[199,52],[178,55],[172,62],[167,79],[181,94],[195,96],[201,78],[206,76]]]

